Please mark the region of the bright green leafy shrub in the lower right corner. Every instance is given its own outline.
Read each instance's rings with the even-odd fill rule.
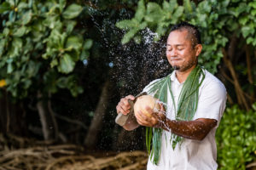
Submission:
[[[227,108],[216,133],[220,169],[246,169],[256,158],[256,103],[253,110]]]

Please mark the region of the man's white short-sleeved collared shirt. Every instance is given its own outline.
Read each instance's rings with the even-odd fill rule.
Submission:
[[[204,70],[205,80],[199,88],[199,101],[197,111],[193,120],[198,118],[215,119],[220,122],[226,104],[226,89],[224,84],[214,77],[210,72]],[[183,82],[177,81],[175,71],[171,75],[172,94],[177,101]],[[154,80],[155,82],[157,80]],[[149,84],[153,83],[150,82]],[[143,89],[148,91],[148,86]],[[167,111],[166,116],[175,120],[174,107],[172,105],[172,96],[170,92],[167,94]],[[148,158],[148,170],[216,170],[217,146],[215,143],[215,133],[218,125],[207,134],[206,138],[199,141],[193,139],[184,139],[181,145],[177,144],[172,149],[171,132],[163,130],[161,139],[160,161],[154,165]]]

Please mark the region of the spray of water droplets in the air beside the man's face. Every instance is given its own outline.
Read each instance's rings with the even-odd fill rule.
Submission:
[[[97,3],[96,3],[97,4]],[[93,4],[93,5],[96,5]],[[91,4],[92,6],[92,4]],[[114,69],[111,78],[118,82],[122,95],[137,94],[145,85],[156,77],[165,76],[163,73],[170,67],[165,57],[166,42],[155,42],[157,33],[149,28],[139,32],[142,42],[121,44],[125,31],[119,30],[115,23],[119,20],[130,19],[132,15],[126,9],[119,12],[119,17],[107,17],[108,11],[88,7],[91,20],[102,37],[101,46],[108,51],[108,65]],[[101,20],[98,20],[99,16]],[[117,19],[119,18],[119,19]]]

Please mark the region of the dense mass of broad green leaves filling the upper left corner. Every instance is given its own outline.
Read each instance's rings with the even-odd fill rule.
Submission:
[[[66,0],[0,4],[0,77],[14,97],[26,97],[30,88],[52,93],[68,88],[74,96],[83,92],[70,75],[92,46],[92,40],[81,36],[84,31],[75,29],[82,10]]]

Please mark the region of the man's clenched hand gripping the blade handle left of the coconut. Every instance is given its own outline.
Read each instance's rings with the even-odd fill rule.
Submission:
[[[134,100],[135,97],[132,95],[128,95],[125,98],[120,99],[119,104],[116,106],[116,112],[122,113],[123,115],[127,115],[130,113],[131,105],[128,102],[128,99]]]

